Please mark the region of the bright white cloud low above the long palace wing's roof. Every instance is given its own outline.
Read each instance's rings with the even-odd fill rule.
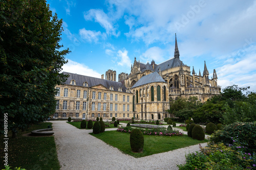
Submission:
[[[101,78],[101,75],[97,71],[89,68],[87,65],[80,64],[72,60],[68,60],[68,61],[69,62],[67,64],[64,64],[62,66],[63,68],[62,71],[71,72],[71,73],[84,75],[84,76]]]

